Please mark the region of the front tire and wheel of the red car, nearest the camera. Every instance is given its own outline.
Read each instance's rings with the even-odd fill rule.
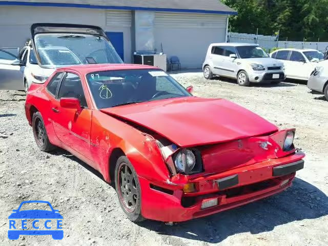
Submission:
[[[116,161],[115,190],[119,204],[133,222],[145,220],[141,215],[141,189],[137,173],[126,156]]]

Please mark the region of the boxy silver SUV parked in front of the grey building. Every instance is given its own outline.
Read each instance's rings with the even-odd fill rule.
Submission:
[[[214,75],[235,78],[240,86],[277,84],[285,79],[283,63],[269,57],[257,44],[211,44],[202,68],[207,79]]]

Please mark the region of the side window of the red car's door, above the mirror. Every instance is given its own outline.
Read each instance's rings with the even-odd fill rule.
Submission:
[[[74,73],[67,73],[63,82],[61,82],[58,92],[58,99],[62,97],[77,98],[80,101],[81,107],[88,107],[81,79]]]

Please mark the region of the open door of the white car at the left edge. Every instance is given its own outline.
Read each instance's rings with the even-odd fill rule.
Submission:
[[[24,90],[25,66],[17,55],[8,50],[0,49],[0,90]]]

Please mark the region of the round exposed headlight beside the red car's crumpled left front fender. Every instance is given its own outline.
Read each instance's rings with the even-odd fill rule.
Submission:
[[[189,149],[180,150],[174,159],[175,167],[182,173],[189,174],[196,164],[196,157]]]

